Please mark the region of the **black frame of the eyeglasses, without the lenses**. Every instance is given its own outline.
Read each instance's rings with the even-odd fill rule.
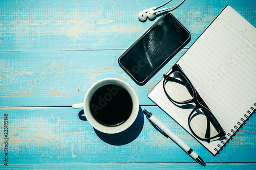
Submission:
[[[221,138],[225,136],[225,131],[223,130],[223,128],[221,127],[220,123],[218,122],[217,118],[214,116],[214,114],[212,114],[212,112],[210,111],[210,109],[207,107],[207,105],[204,103],[203,99],[201,98],[201,96],[199,95],[199,93],[197,92],[197,90],[195,89],[195,87],[192,85],[192,83],[190,82],[190,80],[187,78],[187,76],[185,75],[185,73],[183,72],[183,70],[181,69],[179,64],[175,64],[172,67],[172,71],[169,72],[168,75],[164,75],[164,81],[163,81],[163,89],[164,92],[166,94],[166,96],[168,97],[168,99],[170,101],[173,101],[174,103],[177,104],[189,104],[189,103],[195,103],[196,107],[191,111],[191,113],[188,116],[188,127],[190,129],[190,131],[200,140],[204,140],[207,141],[208,143],[210,142],[211,139],[215,139],[217,137]],[[165,89],[165,82],[168,81],[167,79],[171,79],[170,81],[176,82],[176,83],[180,83],[183,84],[186,88],[188,88],[188,86],[186,86],[186,84],[184,83],[184,81],[180,81],[178,79],[175,79],[173,77],[170,77],[170,75],[172,75],[174,72],[180,72],[187,80],[187,82],[189,83],[190,87],[192,88],[193,91],[193,99],[189,100],[189,101],[185,101],[185,102],[177,102],[175,100],[173,100],[167,93],[166,89]],[[190,92],[191,90],[188,89],[188,91]],[[220,132],[218,133],[218,135],[213,136],[213,137],[205,137],[205,138],[201,138],[199,137],[191,128],[190,126],[190,118],[191,115],[197,110],[197,109],[205,109],[209,114],[205,114],[203,112],[203,114],[206,116],[207,119],[207,128],[206,128],[206,134],[209,135],[209,131],[210,131],[210,120],[211,122],[214,122],[215,124],[212,124],[215,128],[216,125],[218,126],[218,128],[220,129]],[[213,117],[214,119],[212,119],[211,117]],[[217,128],[216,128],[217,129]]]

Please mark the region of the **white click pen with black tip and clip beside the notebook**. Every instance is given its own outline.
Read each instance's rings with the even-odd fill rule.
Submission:
[[[169,128],[167,128],[158,118],[156,118],[152,113],[149,113],[146,110],[143,110],[143,113],[146,115],[146,118],[150,121],[150,123],[165,137],[169,137],[172,139],[176,144],[179,145],[181,149],[183,149],[191,158],[195,161],[200,163],[201,165],[205,166],[205,162],[203,159],[193,151],[188,145],[182,141],[176,134],[174,134]]]

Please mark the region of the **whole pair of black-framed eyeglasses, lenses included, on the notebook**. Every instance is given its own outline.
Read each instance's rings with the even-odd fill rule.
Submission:
[[[175,64],[172,71],[168,75],[164,75],[163,89],[168,99],[175,104],[194,103],[196,105],[188,116],[188,127],[198,139],[209,143],[225,136],[225,131],[220,123],[204,103],[179,64]]]

